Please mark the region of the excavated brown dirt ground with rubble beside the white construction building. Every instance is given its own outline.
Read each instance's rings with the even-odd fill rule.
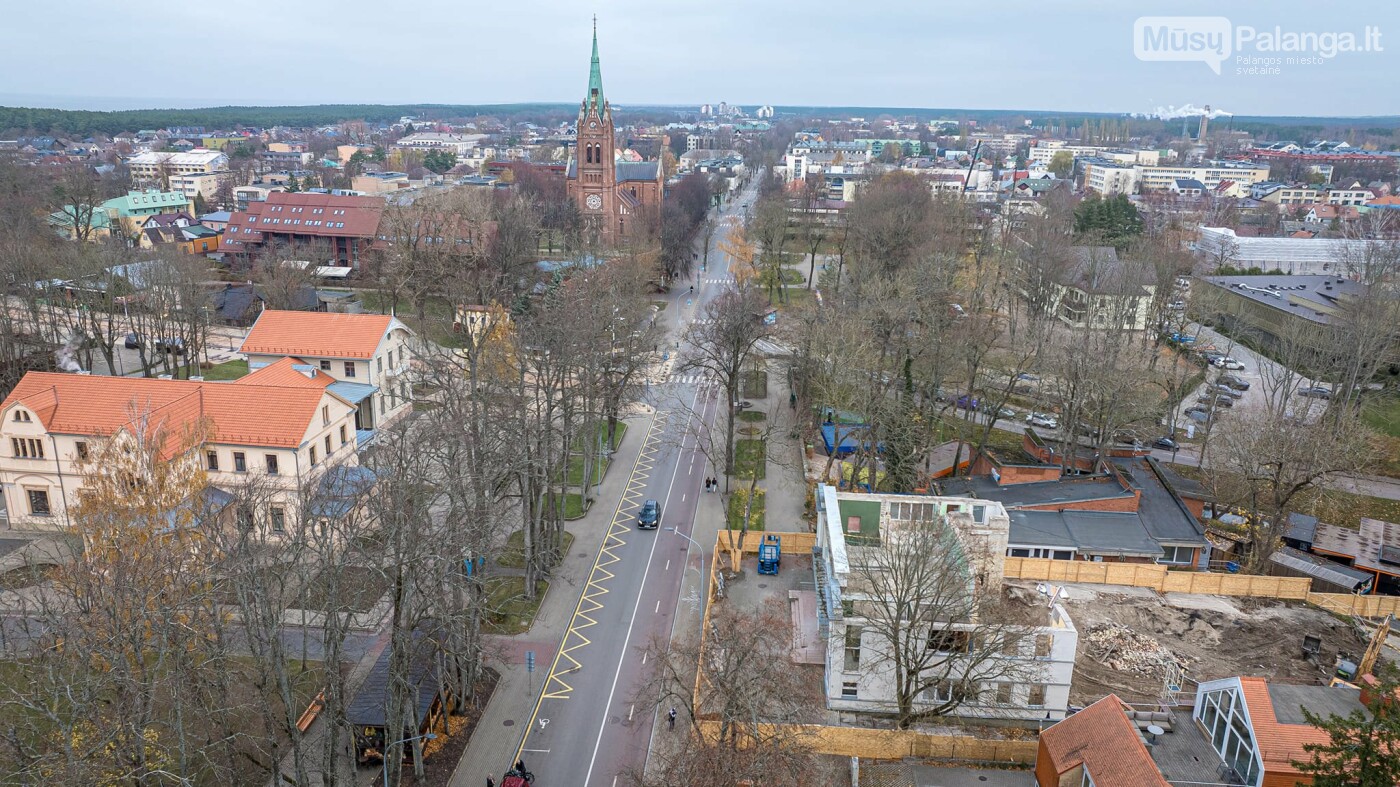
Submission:
[[[1285,683],[1322,683],[1337,654],[1358,660],[1366,640],[1350,623],[1302,602],[1166,594],[1145,588],[1068,585],[1064,601],[1079,632],[1072,704],[1113,692],[1127,702],[1155,702],[1173,660],[1196,683],[1259,675]],[[1319,664],[1303,658],[1303,636],[1322,639]]]

